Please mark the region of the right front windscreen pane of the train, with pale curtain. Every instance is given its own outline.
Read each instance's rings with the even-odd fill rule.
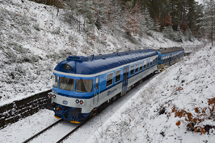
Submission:
[[[93,90],[92,79],[77,79],[75,85],[76,92],[91,92]]]

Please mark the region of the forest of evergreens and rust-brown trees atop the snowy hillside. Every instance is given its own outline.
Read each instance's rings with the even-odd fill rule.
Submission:
[[[66,21],[78,22],[79,30],[93,35],[93,28],[110,30],[120,27],[129,36],[150,34],[149,30],[163,32],[174,41],[193,38],[210,39],[213,44],[215,2],[204,5],[195,0],[33,0],[68,10]],[[74,20],[81,15],[84,21]]]

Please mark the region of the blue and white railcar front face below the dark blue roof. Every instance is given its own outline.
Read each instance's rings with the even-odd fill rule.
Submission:
[[[50,94],[56,118],[80,123],[91,112],[94,77],[81,77],[54,72],[55,82]]]

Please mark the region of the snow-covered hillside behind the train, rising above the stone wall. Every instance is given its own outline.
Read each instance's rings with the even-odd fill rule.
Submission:
[[[68,22],[68,11],[60,9],[57,16],[55,7],[23,1],[0,0],[0,105],[50,89],[53,68],[69,55],[199,44],[176,43],[154,31],[133,44],[123,30],[111,33],[107,28],[95,28],[90,39]]]

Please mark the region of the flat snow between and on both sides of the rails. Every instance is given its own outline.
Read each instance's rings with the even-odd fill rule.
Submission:
[[[152,77],[151,79],[153,79]],[[103,112],[92,118],[84,126],[82,126],[78,131],[72,134],[69,139],[65,142],[71,143],[83,143],[90,139],[91,136],[97,131],[99,127],[102,126],[104,122],[108,120],[119,108],[129,101],[133,95],[139,90],[141,90],[149,80],[144,81],[142,84],[138,85],[126,95],[116,100],[113,104],[108,106]],[[45,127],[56,122],[57,119],[54,118],[54,112],[47,109],[40,110],[40,112],[34,114],[33,116],[24,118],[14,124],[7,126],[6,128],[0,130],[0,143],[16,143],[23,142],[32,135],[38,133]],[[44,132],[41,136],[32,140],[32,143],[55,143],[57,140],[62,138],[76,125],[69,122],[62,122],[48,131]]]

